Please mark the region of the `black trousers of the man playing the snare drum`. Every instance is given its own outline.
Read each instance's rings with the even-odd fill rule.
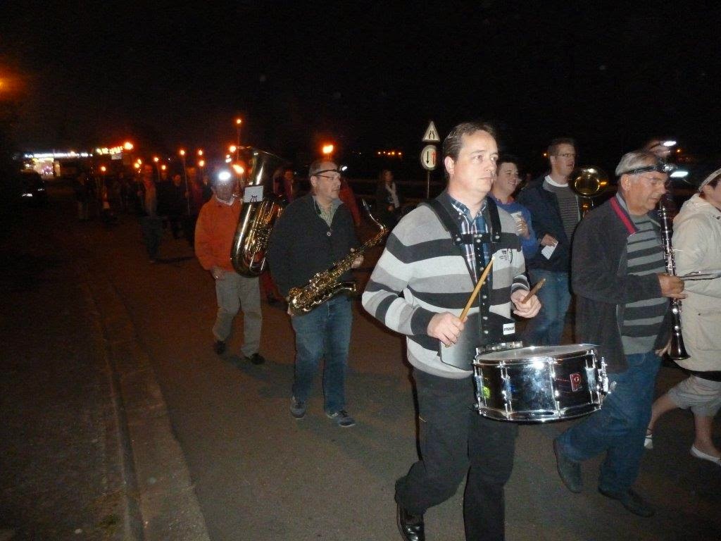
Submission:
[[[518,426],[490,421],[475,410],[473,379],[446,379],[414,370],[420,460],[396,482],[396,501],[413,514],[443,503],[467,473],[467,541],[505,537],[503,486],[513,470]]]

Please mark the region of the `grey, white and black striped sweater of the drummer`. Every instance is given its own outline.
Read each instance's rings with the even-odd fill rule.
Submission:
[[[452,209],[445,192],[439,199]],[[501,230],[515,233],[513,217],[501,208],[498,214]],[[493,255],[490,311],[510,318],[510,294],[516,289],[528,289],[523,252],[504,248]],[[438,356],[439,340],[426,332],[428,322],[438,312],[461,315],[474,285],[451,234],[435,212],[423,205],[404,216],[393,229],[362,302],[386,327],[406,335],[412,366],[435,376],[460,379],[472,371],[443,364]],[[477,306],[469,313],[474,312],[478,312]]]

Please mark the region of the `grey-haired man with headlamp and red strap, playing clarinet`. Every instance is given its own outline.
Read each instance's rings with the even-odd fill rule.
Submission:
[[[653,211],[665,194],[668,166],[650,151],[624,154],[619,190],[590,211],[573,239],[572,286],[578,296],[577,335],[598,344],[611,392],[600,410],[554,441],[559,475],[582,491],[581,462],[605,452],[598,491],[634,514],[653,507],[632,490],[651,415],[660,355],[668,347],[668,298],[683,299],[684,281],[665,273]]]

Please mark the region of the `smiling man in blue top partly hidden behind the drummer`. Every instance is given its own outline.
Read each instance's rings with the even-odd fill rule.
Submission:
[[[536,255],[539,242],[531,225],[531,212],[513,198],[521,178],[518,177],[518,158],[510,154],[498,158],[496,178],[491,187],[490,196],[496,204],[516,220],[516,232],[521,237],[523,258],[529,260]]]

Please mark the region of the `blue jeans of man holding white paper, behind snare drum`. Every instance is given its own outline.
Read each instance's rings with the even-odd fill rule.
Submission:
[[[561,343],[568,305],[571,303],[568,273],[532,268],[528,269],[528,278],[532,284],[546,278],[546,283],[537,294],[542,304],[541,311],[528,320],[528,326],[523,333],[523,345],[558,346]]]

